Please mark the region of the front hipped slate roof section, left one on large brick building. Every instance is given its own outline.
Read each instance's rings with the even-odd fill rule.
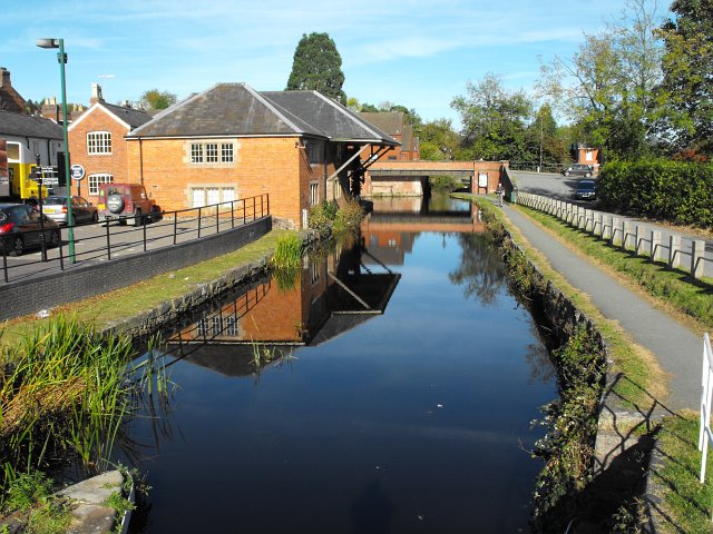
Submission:
[[[290,135],[324,137],[246,83],[218,83],[165,109],[126,137]]]

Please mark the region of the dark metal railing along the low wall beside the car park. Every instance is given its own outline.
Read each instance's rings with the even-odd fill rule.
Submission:
[[[226,202],[186,208],[160,214],[146,214],[127,217],[119,222],[109,219],[88,225],[75,225],[75,264],[66,254],[65,239],[61,234],[69,227],[45,228],[46,236],[51,231],[60,231],[59,246],[49,247],[49,238],[33,239],[42,230],[25,231],[25,243],[39,240],[38,255],[10,257],[11,239],[14,234],[0,236],[0,255],[2,260],[2,280],[14,281],[29,276],[41,275],[52,270],[66,270],[77,264],[92,260],[111,260],[130,254],[140,254],[158,248],[170,247],[178,243],[205,238],[232,230],[237,226],[270,215],[268,194],[231,200]],[[28,239],[28,237],[30,239]]]

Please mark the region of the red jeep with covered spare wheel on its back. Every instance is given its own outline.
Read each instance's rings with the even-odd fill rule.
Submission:
[[[140,184],[99,185],[97,208],[100,219],[118,220],[120,225],[131,219],[134,226],[140,226],[162,217],[160,208],[154,199],[148,198]]]

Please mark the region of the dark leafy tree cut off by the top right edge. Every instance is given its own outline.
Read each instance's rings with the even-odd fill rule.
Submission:
[[[713,154],[713,0],[674,0],[675,20],[666,20],[662,89],[672,109],[662,131],[672,147]]]

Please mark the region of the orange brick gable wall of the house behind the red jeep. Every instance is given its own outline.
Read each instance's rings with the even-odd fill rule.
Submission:
[[[109,131],[111,134],[111,154],[87,154],[87,134],[91,131]],[[104,108],[90,108],[81,120],[75,122],[68,131],[69,155],[71,164],[79,164],[85,168],[86,177],[79,182],[81,196],[91,202],[97,201],[96,196],[89,195],[89,175],[113,175],[114,181],[129,181],[127,172],[127,146],[124,136],[127,128],[107,112]],[[72,186],[76,186],[72,180]],[[77,188],[72,187],[72,194],[77,195]]]

